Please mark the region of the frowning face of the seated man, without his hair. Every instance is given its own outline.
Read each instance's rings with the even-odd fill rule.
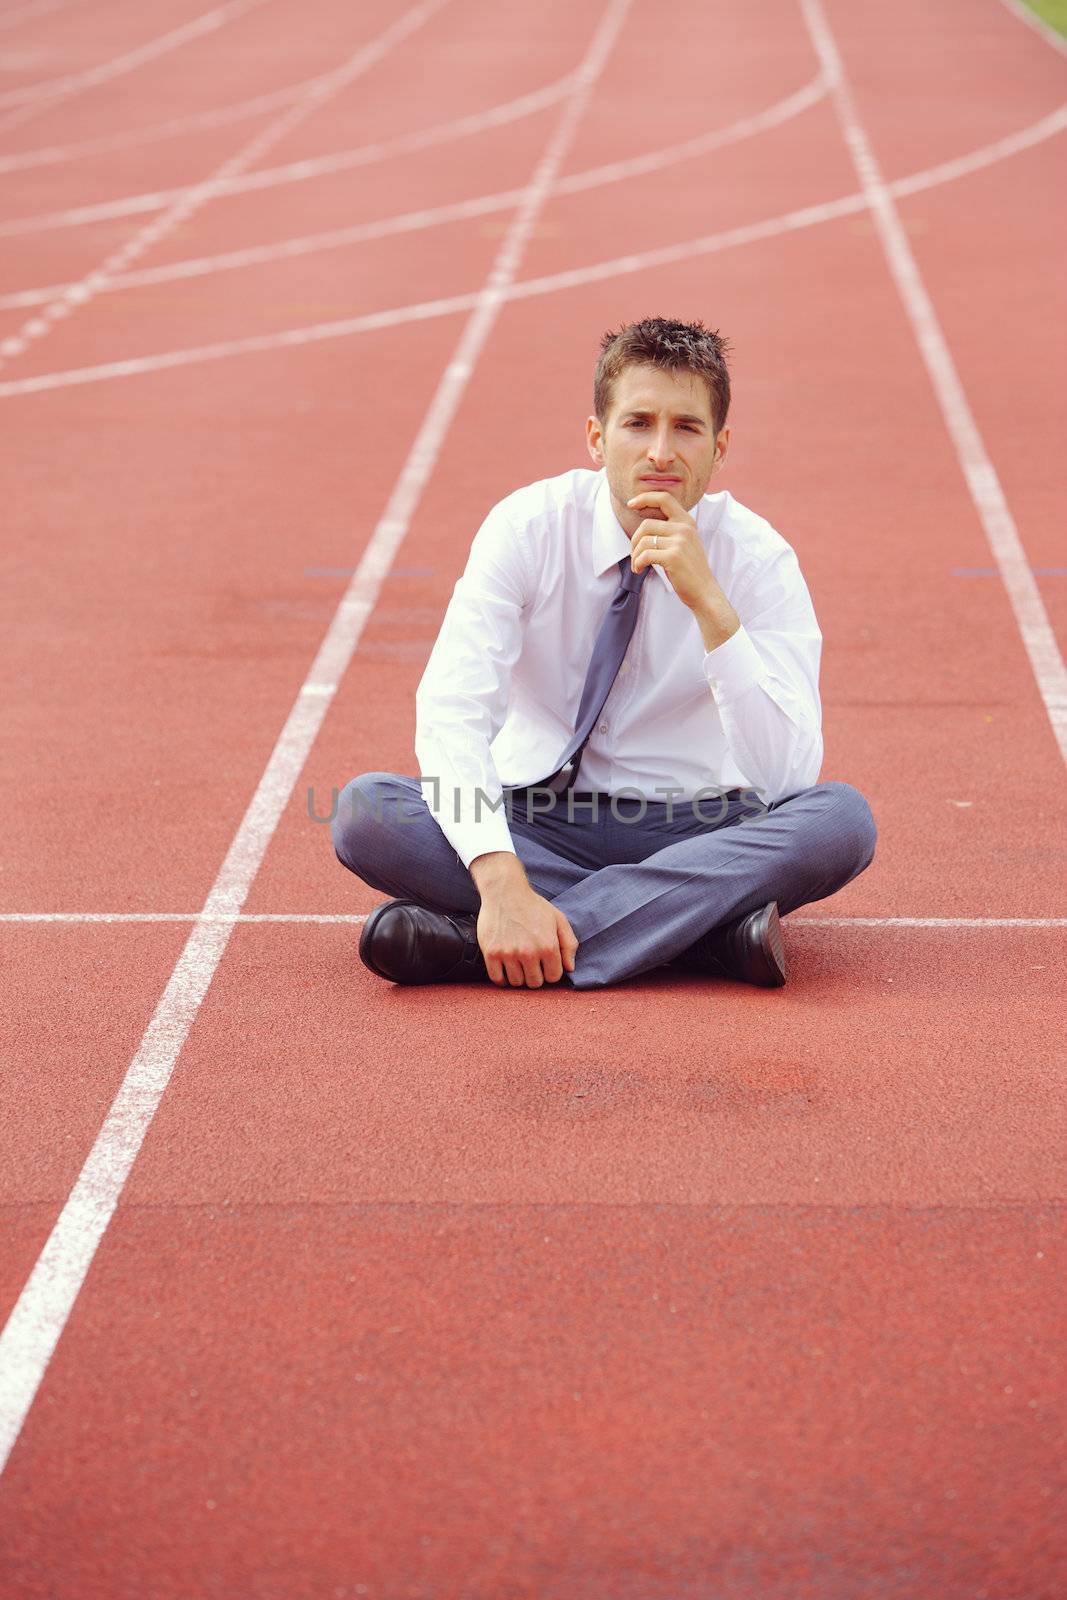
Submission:
[[[627,366],[614,382],[603,427],[590,416],[585,438],[593,462],[606,470],[614,514],[629,534],[656,515],[630,510],[629,499],[667,490],[691,510],[729,448],[728,427],[715,435],[704,379],[659,366]]]

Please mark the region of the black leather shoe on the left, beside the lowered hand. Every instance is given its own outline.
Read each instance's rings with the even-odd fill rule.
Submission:
[[[475,912],[386,901],[363,923],[360,960],[394,984],[488,984],[477,925]]]

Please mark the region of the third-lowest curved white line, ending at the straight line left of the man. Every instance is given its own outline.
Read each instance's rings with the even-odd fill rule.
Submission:
[[[569,74],[557,83],[545,85],[545,88],[531,90],[530,94],[520,94],[517,99],[491,106],[488,110],[477,110],[453,122],[437,123],[434,128],[405,133],[378,144],[360,144],[350,150],[317,155],[304,162],[288,162],[285,166],[266,166],[261,171],[246,173],[221,184],[218,192],[224,195],[245,194],[251,189],[274,189],[277,184],[304,182],[307,178],[349,171],[354,166],[373,166],[376,162],[384,162],[394,155],[411,155],[416,150],[448,144],[451,139],[464,139],[467,134],[483,133],[486,128],[499,128],[509,122],[518,122],[522,117],[545,110],[563,99],[565,94],[569,94],[573,86],[574,75]],[[50,227],[80,227],[83,222],[101,222],[115,216],[133,216],[139,211],[162,211],[165,205],[179,200],[195,187],[195,184],[182,184],[178,189],[157,189],[154,194],[126,195],[122,200],[104,200],[99,205],[74,206],[69,211],[51,211],[45,216],[22,216],[13,222],[0,224],[0,237],[11,238],[18,234],[37,234]]]

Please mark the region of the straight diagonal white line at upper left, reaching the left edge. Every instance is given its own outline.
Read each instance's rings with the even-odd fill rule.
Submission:
[[[376,66],[382,56],[389,54],[395,45],[408,38],[416,29],[422,27],[435,11],[445,5],[445,0],[419,0],[418,5],[403,11],[390,26],[373,38],[368,45],[362,45],[355,54],[352,54],[341,67],[334,72],[325,74],[318,78],[312,88],[306,90],[299,99],[282,112],[274,122],[261,128],[259,133],[242,146],[235,155],[218,168],[211,178],[205,178],[203,182],[197,184],[194,189],[187,189],[181,200],[173,206],[157,216],[152,222],[142,227],[133,238],[126,240],[118,250],[112,251],[107,259],[90,272],[80,283],[72,285],[64,290],[56,299],[50,301],[45,309],[32,317],[29,322],[22,323],[18,333],[6,339],[0,339],[0,368],[3,368],[10,360],[21,355],[29,344],[46,338],[48,333],[56,326],[56,323],[69,317],[77,307],[86,306],[101,290],[107,288],[110,278],[123,272],[131,261],[142,256],[146,250],[157,245],[166,234],[173,232],[186,222],[194,211],[206,205],[219,192],[219,184],[224,184],[235,173],[243,171],[243,168],[251,166],[253,162],[259,160],[264,150],[269,150],[272,144],[291,133],[301,122],[318,110],[318,107],[336,94],[339,90],[347,88],[355,78],[358,78],[370,67]]]

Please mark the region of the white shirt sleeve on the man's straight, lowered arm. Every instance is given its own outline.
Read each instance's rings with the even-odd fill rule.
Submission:
[[[464,867],[486,851],[515,854],[490,746],[531,595],[526,534],[498,506],[470,544],[414,696],[422,795]]]

